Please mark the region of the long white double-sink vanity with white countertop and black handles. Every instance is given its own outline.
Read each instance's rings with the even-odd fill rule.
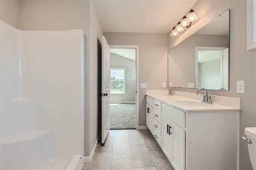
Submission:
[[[215,96],[214,104],[204,104],[202,96],[194,93],[173,94],[146,90],[146,125],[172,166],[238,169],[241,99]]]

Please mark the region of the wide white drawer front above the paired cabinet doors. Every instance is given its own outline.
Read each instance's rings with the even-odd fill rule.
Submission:
[[[185,128],[185,112],[162,104],[162,114],[182,128]]]

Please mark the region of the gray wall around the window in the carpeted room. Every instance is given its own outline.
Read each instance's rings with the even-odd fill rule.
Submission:
[[[110,102],[135,102],[136,63],[134,60],[110,53],[110,68],[126,68],[126,94],[110,94]]]

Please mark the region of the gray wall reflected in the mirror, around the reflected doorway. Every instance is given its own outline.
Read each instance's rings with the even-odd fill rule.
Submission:
[[[174,87],[188,87],[188,83],[196,86],[196,47],[228,47],[228,36],[194,34],[170,49],[168,81]]]

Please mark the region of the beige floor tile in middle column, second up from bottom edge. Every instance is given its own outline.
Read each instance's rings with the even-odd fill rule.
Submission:
[[[114,141],[112,159],[132,158],[128,140]]]

